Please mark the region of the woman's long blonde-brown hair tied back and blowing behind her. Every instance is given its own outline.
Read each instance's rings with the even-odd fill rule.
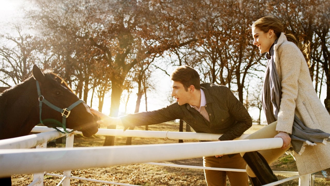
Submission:
[[[288,41],[293,42],[298,46],[300,51],[303,53],[305,60],[307,62],[308,67],[310,67],[310,59],[309,59],[309,47],[310,43],[308,44],[301,44],[293,34],[287,34],[284,32],[283,24],[281,21],[273,16],[265,16],[257,21],[255,21],[251,27],[259,28],[264,33],[268,32],[270,29],[274,30],[275,35],[277,38],[280,37],[281,32],[283,32]]]

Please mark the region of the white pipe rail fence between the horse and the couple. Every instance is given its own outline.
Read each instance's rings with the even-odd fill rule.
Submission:
[[[143,130],[126,130],[123,132],[122,130],[118,129],[99,129],[95,135],[168,138],[183,140],[193,139],[207,140],[212,142],[72,148],[74,134],[71,134],[66,140],[66,148],[46,149],[47,141],[62,137],[64,135],[55,131],[54,129],[42,126],[34,127],[32,132],[42,133],[0,140],[0,149],[2,149],[0,152],[0,177],[6,177],[12,174],[35,173],[34,181],[30,185],[43,185],[43,177],[45,172],[65,170],[63,175],[47,175],[63,177],[58,185],[62,184],[64,186],[70,185],[70,179],[82,179],[108,184],[129,185],[102,180],[73,177],[71,176],[71,170],[259,151],[279,148],[283,143],[281,138],[243,140],[246,135],[241,136],[240,138],[237,138],[237,140],[233,141],[217,141],[219,134]],[[81,134],[81,132],[74,133]],[[37,146],[36,149],[29,149],[35,146]],[[131,152],[135,152],[135,156],[131,156]],[[85,161],[81,161],[82,159]],[[180,167],[180,165],[170,166]],[[188,168],[192,167],[206,169],[206,167],[196,166],[189,166]],[[207,169],[225,170],[211,167],[207,167]],[[245,170],[232,169],[231,171]],[[277,185],[297,178],[299,178],[300,186],[310,185],[310,175],[300,176],[297,172],[287,171],[274,171],[274,173],[291,174],[294,176],[279,180],[278,182],[267,184],[267,186]]]

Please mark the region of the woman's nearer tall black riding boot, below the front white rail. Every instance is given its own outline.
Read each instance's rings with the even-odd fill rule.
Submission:
[[[244,154],[243,159],[256,175],[259,183],[265,185],[278,181],[277,177],[273,173],[271,167],[267,163],[266,159],[258,152],[247,152]],[[251,181],[251,179],[250,179]],[[252,181],[251,181],[252,182]],[[257,182],[255,182],[257,183]],[[253,184],[253,183],[251,183]],[[281,184],[279,184],[281,186]]]

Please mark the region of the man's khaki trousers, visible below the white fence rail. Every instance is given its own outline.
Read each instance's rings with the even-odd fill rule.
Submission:
[[[221,158],[215,158],[215,156],[203,157],[203,165],[217,168],[246,168],[246,163],[240,154],[231,158],[228,155],[224,155]],[[248,186],[248,175],[246,172],[204,170],[204,175],[208,186],[226,186],[226,176],[228,176],[231,186]]]

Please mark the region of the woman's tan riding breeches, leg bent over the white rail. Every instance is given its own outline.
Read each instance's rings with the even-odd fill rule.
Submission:
[[[245,139],[262,139],[262,138],[273,138],[278,134],[276,131],[276,125],[277,121],[259,129],[258,131],[250,134],[248,137]],[[286,149],[269,149],[269,150],[263,150],[263,151],[258,151],[267,161],[268,164],[271,164],[275,162],[277,159],[279,159],[285,151],[287,151],[290,148],[290,146]],[[241,153],[241,156],[243,157],[245,153]],[[247,165],[246,166],[247,173],[250,177],[255,177],[254,173],[250,169],[250,167]]]

